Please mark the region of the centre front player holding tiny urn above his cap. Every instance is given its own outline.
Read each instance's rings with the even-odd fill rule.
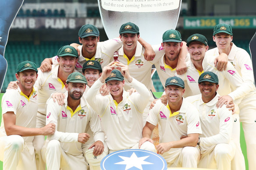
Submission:
[[[109,153],[121,149],[139,149],[143,128],[142,113],[150,93],[144,84],[130,76],[127,65],[117,62],[116,70],[112,64],[114,62],[103,68],[102,75],[88,90],[85,98],[101,118]],[[124,90],[124,78],[137,93],[129,95]],[[103,83],[107,84],[110,92],[107,96],[98,94]]]

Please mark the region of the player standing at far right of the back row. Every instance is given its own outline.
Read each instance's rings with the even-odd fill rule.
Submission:
[[[247,93],[242,97],[238,107],[240,109],[240,121],[242,122],[245,133],[249,170],[253,170],[256,167],[256,88],[254,85],[252,60],[244,49],[238,48],[232,42],[232,39],[233,33],[231,26],[217,24],[213,30],[213,41],[216,42],[217,47],[209,50],[207,53],[212,56],[216,56],[219,53],[227,54],[228,60],[237,70],[236,73],[242,76],[243,83],[246,86]]]

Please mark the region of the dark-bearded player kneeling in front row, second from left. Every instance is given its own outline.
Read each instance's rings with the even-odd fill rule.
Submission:
[[[86,84],[81,73],[71,73],[65,84],[67,91],[64,105],[60,106],[53,99],[48,102],[46,124],[54,122],[57,126],[57,131],[47,136],[42,149],[48,170],[73,170],[77,167],[87,170],[88,163],[91,170],[100,170],[100,161],[107,155],[107,147],[103,153],[105,134],[100,119],[82,97]],[[87,133],[89,129],[93,137]],[[96,142],[88,145],[89,138]],[[87,158],[92,159],[87,159],[86,163],[83,153],[92,147],[93,152],[89,153],[91,156],[87,155]]]

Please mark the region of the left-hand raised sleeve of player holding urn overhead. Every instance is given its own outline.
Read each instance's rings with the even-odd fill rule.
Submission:
[[[103,84],[104,83],[101,83],[100,79],[96,80],[85,95],[86,101],[89,103],[92,109],[99,114],[99,116],[102,116],[105,113],[105,109],[107,107],[106,105],[109,102],[108,96],[98,94],[98,91]]]

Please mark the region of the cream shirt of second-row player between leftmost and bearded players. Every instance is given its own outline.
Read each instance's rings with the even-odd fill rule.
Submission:
[[[38,111],[42,114],[46,114],[46,101],[52,93],[64,93],[67,91],[64,83],[58,78],[59,66],[59,64],[52,65],[52,69],[49,72],[38,71],[35,87],[38,90]]]

